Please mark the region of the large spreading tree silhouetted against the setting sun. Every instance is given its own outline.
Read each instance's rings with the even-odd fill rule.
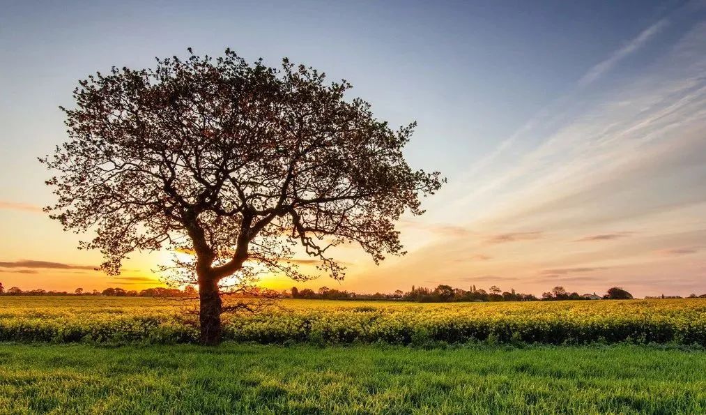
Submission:
[[[189,252],[172,278],[198,284],[201,341],[215,344],[222,293],[265,271],[306,278],[294,255],[342,279],[332,247],[355,242],[376,263],[404,253],[395,221],[443,182],[403,158],[414,124],[393,131],[344,99],[347,81],[287,59],[189,54],[89,76],[61,107],[68,141],[42,159],[56,172],[47,211],[92,231],[80,247],[100,250],[107,274],[131,252]]]

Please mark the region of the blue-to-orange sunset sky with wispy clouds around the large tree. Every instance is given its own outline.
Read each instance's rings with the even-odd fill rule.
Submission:
[[[345,78],[448,184],[398,228],[405,257],[345,250],[361,293],[471,285],[706,293],[706,1],[9,1],[0,13],[0,282],[141,289],[167,252],[94,271],[41,207],[78,79],[155,57],[282,57]],[[268,276],[272,288],[292,281]]]

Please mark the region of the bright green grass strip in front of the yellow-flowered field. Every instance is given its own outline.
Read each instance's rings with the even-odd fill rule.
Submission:
[[[650,346],[0,344],[2,413],[705,413],[706,353]]]

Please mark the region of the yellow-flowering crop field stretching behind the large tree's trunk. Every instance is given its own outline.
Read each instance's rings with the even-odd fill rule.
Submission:
[[[0,297],[0,340],[196,341],[195,303],[101,296]],[[503,303],[282,300],[225,317],[225,339],[258,343],[467,341],[700,344],[706,299]]]

